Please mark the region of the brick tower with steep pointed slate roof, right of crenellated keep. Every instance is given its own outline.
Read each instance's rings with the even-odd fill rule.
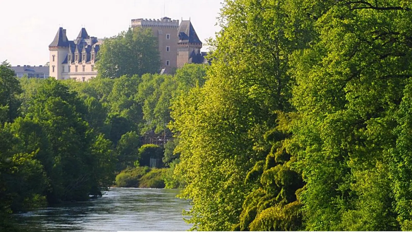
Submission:
[[[178,28],[177,45],[177,67],[180,68],[186,63],[201,64],[204,54],[200,52],[202,42],[194,31],[190,20],[183,20]]]

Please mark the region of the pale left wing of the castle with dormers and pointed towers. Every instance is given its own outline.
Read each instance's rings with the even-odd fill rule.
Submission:
[[[68,40],[66,30],[59,28],[49,45],[50,76],[58,80],[70,78],[77,81],[88,81],[96,77],[94,62],[102,43],[102,40],[89,36],[85,28],[80,30],[74,40]]]

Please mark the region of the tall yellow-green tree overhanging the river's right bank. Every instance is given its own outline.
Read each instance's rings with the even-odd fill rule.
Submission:
[[[290,182],[278,185],[284,189],[281,198],[278,189],[264,188],[266,199],[250,202],[258,197],[250,194],[259,185],[245,179],[256,163],[265,161],[272,143],[284,139],[265,141],[264,135],[276,128],[276,111],[293,111],[289,55],[311,39],[310,28],[301,24],[309,16],[300,11],[295,1],[225,1],[222,31],[213,42],[214,59],[204,87],[192,88],[173,104],[171,128],[180,139],[176,152],[181,153],[175,173],[186,182],[182,196],[193,201],[188,213],[194,230],[240,229],[242,211],[258,204],[262,206],[255,213],[266,218],[279,211],[299,218],[300,208],[287,206],[296,199],[292,191],[296,187]],[[275,182],[273,175],[299,179],[288,165],[271,168],[275,167],[267,168],[266,176],[258,174],[257,180],[262,175],[260,180],[266,178],[265,185],[270,185]],[[249,216],[248,222],[243,221],[244,230],[250,230],[255,217],[254,229],[272,228],[258,227],[264,215]],[[301,222],[272,225],[293,230]]]

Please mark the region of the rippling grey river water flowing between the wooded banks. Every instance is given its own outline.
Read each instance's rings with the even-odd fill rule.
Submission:
[[[177,189],[112,188],[101,198],[16,214],[33,232],[188,230],[182,211],[189,202]]]

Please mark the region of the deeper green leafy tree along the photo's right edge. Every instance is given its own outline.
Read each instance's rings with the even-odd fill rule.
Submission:
[[[411,5],[325,2],[318,38],[291,62],[306,230],[411,228],[407,185],[396,174],[408,170],[396,148],[407,144],[407,111],[398,109],[411,75]]]

